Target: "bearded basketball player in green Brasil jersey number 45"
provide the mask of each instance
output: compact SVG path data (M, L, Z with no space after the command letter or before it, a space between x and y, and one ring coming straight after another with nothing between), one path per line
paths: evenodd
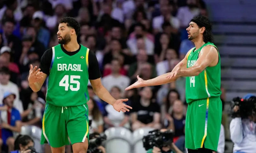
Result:
M101 84L95 54L77 43L79 31L80 25L74 18L62 18L57 33L60 44L46 50L39 69L30 66L28 81L34 92L41 89L49 76L41 143L49 143L52 153L64 153L65 145L69 145L68 137L74 153L87 151L88 80L97 96L116 111L132 109L123 103L128 99L116 100Z

